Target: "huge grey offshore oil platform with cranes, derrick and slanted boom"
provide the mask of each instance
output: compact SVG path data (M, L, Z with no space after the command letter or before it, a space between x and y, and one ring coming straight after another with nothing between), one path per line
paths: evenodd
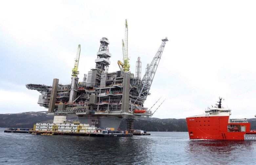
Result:
M77 77L81 50L78 45L71 84L59 84L59 79L54 78L52 86L26 84L26 87L41 93L38 104L48 108L48 115L54 115L54 120L62 120L59 121L61 123L65 123L66 116L75 114L80 123L95 127L112 127L117 130L122 118L125 118L127 130L130 131L133 129L135 118L153 115L143 104L150 95L149 90L168 39L161 41L156 55L151 63L147 64L143 77L141 78L140 57L136 62L134 75L129 71L128 24L125 20L125 38L122 40L123 62L117 61L119 71L108 72L111 58L110 42L103 37L96 53L95 68L84 74L81 82Z

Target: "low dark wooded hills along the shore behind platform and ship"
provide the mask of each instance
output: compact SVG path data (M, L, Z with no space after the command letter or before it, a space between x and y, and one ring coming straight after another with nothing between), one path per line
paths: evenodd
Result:
M77 120L76 116L69 116L67 120ZM256 130L256 119L248 119L251 129ZM0 127L32 128L35 123L51 123L53 116L47 115L47 111L22 112L13 114L0 114ZM119 126L121 130L126 130L125 119ZM187 124L185 119L159 119L159 118L138 118L134 122L134 129L144 131L163 132L186 132Z

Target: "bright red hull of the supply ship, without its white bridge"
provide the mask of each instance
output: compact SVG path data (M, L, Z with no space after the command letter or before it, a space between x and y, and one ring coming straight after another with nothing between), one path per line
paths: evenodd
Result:
M250 123L229 123L229 116L199 116L186 118L190 139L207 140L256 140L256 131ZM245 130L233 131L230 126L242 126Z

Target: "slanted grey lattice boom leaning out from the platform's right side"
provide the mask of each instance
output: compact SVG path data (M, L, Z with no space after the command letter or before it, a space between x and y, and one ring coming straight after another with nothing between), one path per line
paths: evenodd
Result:
M159 61L161 59L166 41L168 41L167 37L165 39L162 39L162 43L161 43L156 55L154 56L151 63L147 66L146 73L144 74L143 78L141 79L140 89L139 89L139 98L142 99L143 102L146 100L147 95L149 93L149 90L150 90L152 81L154 79L154 76L156 74L157 67L158 67Z

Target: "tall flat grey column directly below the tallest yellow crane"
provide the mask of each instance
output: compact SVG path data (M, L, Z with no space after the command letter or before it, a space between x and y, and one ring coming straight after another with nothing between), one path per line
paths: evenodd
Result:
M129 93L130 93L130 79L131 75L123 74L123 97L122 97L122 111L129 112Z

